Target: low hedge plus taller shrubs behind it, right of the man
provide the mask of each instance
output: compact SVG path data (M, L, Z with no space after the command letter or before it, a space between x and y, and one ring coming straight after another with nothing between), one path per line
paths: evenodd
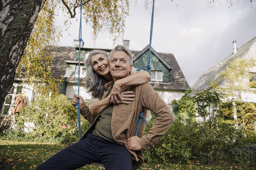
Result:
M186 121L183 121L182 117L177 118L153 148L143 151L146 162L163 164L191 161L201 164L228 162L254 167L255 162L252 161L252 157L255 152L246 148L254 147L256 134L251 129L236 130L233 126L234 122L226 122L225 117L231 120L233 105L230 102L222 103L224 96L222 92L211 88L199 91L193 97L186 95L179 101L174 101L177 111L193 113L194 111L189 109L193 109L195 103L198 106L197 114L204 116L203 121L191 121L195 118L194 114L187 114ZM149 122L145 134L154 120L155 116Z

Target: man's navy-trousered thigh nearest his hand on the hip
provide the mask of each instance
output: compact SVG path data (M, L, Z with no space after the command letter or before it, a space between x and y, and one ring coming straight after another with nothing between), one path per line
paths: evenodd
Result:
M106 170L132 169L132 155L125 146L102 140L96 153Z

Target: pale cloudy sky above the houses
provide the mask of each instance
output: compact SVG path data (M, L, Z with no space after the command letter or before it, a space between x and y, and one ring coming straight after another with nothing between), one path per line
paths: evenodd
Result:
M152 3L130 1L130 15L126 20L124 39L130 40L130 49L142 50L149 44ZM156 52L172 53L189 86L207 70L233 53L237 47L256 36L256 2L252 0L157 0L155 1L152 47ZM78 15L77 15L78 17ZM65 18L59 14L57 25L63 27ZM58 45L73 46L78 39L79 19L73 19ZM113 48L107 32L101 32L93 41L90 25L82 22L84 47ZM118 40L122 44L122 39Z

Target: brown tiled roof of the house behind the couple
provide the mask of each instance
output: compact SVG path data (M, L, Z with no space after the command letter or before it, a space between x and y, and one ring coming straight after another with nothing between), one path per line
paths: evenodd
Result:
M148 46L145 48L149 48ZM143 50L145 50L145 48ZM64 75L66 72L66 61L73 61L76 55L77 47L66 47L66 46L57 46L50 49L50 53L54 56L53 66L52 66L52 75L54 78L61 79L61 75ZM82 48L83 50L92 50L95 48ZM99 49L99 48L97 48ZM102 49L110 51L110 49ZM154 49L152 49L153 51ZM141 51L131 50L131 53L136 56ZM151 82L153 88L157 89L174 89L174 90L188 90L189 85L186 78L184 77L178 62L171 53L157 53L154 50L154 53L158 55L159 58L165 63L166 67L170 70L169 79L170 82ZM77 81L77 78L66 78L66 81ZM82 80L81 80L82 81Z

